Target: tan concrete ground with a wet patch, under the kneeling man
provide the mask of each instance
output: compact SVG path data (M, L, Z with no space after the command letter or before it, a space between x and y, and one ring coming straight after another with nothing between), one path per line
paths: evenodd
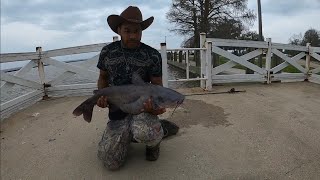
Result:
M320 85L232 84L237 94L187 96L170 116L179 133L148 162L132 144L125 166L108 171L97 143L107 109L91 123L71 112L86 97L41 101L1 126L1 179L320 179ZM199 89L181 90L184 93Z

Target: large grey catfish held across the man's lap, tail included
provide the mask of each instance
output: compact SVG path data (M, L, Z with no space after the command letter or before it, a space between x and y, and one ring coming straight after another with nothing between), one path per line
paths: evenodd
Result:
M184 101L184 95L170 88L144 82L136 73L132 75L132 84L111 86L95 90L94 95L81 103L73 115L83 114L84 120L91 122L93 107L101 96L106 96L108 103L119 107L123 112L139 114L143 103L152 99L153 108L177 107Z

